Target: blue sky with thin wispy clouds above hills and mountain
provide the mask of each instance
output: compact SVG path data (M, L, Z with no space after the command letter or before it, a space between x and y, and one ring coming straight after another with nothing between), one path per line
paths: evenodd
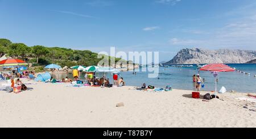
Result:
M256 50L255 0L0 0L0 38L28 46Z

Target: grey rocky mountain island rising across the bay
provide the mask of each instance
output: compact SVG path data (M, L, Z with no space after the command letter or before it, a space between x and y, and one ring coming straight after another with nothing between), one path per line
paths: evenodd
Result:
M209 63L245 63L256 59L255 50L232 49L181 49L168 64L209 64Z

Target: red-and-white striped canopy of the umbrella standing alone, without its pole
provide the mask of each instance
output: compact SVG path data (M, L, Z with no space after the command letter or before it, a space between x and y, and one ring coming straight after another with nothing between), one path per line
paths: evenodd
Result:
M235 69L231 68L228 65L225 64L208 64L203 66L203 68L200 69L201 71L217 71L217 72L228 72L228 71L236 71Z

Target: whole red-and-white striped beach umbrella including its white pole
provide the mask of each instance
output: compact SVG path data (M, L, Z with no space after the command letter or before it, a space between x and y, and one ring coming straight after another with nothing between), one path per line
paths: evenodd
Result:
M200 71L212 71L212 73L215 77L215 98L216 98L217 97L217 75L218 75L218 72L230 72L230 71L236 71L236 70L231 68L228 65L225 65L225 64L208 64L208 65L203 66L203 68L201 68Z

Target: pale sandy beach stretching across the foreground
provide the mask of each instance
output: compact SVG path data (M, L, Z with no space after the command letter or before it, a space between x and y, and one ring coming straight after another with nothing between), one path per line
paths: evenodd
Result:
M20 94L0 91L0 127L256 127L256 112L250 110L256 103L236 99L245 93L218 94L224 101L204 102L192 99L188 90L22 81L37 85L27 85L33 89ZM115 107L120 102L125 106Z

